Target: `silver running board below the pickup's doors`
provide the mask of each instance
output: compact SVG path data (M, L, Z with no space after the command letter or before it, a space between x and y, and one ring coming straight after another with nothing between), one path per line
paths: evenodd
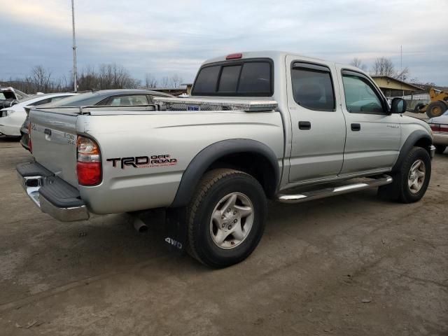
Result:
M319 198L353 193L353 191L385 186L386 184L392 183L392 181L393 179L391 176L381 175L377 179L372 179L372 181L365 183L352 183L347 184L346 186L325 188L321 190L311 190L295 195L279 194L276 197L277 200L281 203L301 203L311 200L318 200Z

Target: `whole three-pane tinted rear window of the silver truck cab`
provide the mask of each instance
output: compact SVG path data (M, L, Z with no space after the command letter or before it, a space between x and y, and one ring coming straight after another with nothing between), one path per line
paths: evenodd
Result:
M192 95L272 96L272 62L243 60L204 66Z

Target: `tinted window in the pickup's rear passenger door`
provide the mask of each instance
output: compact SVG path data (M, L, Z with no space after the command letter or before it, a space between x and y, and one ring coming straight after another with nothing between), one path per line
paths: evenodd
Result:
M304 108L335 111L335 94L326 66L297 62L291 70L293 97Z

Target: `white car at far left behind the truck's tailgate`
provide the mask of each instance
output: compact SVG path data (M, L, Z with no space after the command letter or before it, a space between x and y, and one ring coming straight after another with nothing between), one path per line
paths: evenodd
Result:
M15 104L5 109L0 110L0 135L6 137L20 137L20 127L27 118L25 107L37 106L55 102L77 93L59 92L49 94L38 94L36 96L26 97L21 99L18 104Z

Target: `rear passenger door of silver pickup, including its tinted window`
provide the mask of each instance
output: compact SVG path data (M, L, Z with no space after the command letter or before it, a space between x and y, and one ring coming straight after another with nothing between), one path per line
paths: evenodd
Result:
M329 62L286 57L290 183L332 179L342 169L346 125L334 72Z

